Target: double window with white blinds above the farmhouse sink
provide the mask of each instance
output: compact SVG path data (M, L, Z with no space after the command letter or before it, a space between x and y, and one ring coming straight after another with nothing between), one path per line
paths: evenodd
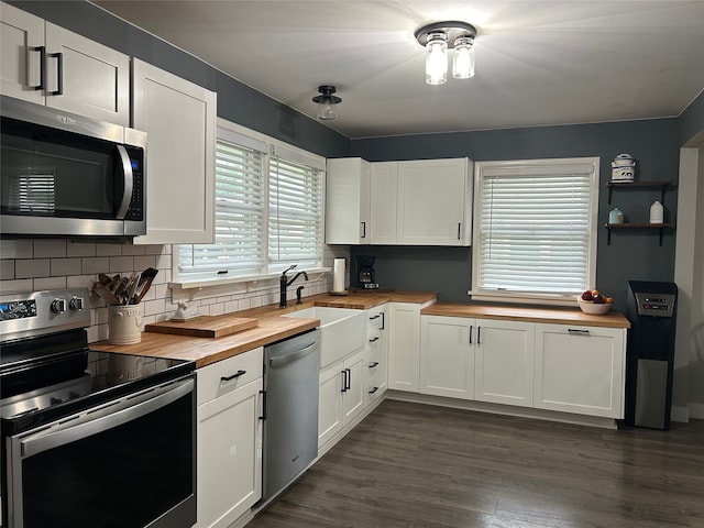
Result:
M178 245L176 280L320 266L324 160L218 129L213 244Z

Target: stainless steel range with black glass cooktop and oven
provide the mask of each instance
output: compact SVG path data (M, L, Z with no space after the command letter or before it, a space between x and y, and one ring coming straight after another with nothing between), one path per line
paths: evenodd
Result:
M195 364L88 326L85 288L0 296L2 526L193 527Z

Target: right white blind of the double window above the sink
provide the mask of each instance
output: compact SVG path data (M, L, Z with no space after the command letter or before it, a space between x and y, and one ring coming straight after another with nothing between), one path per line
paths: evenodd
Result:
M268 260L310 265L322 261L322 170L273 154L270 160Z

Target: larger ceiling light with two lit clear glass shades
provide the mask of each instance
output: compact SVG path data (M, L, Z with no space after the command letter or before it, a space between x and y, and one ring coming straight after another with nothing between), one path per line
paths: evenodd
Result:
M466 22L433 22L416 30L418 44L426 48L426 82L444 85L448 80L448 50L454 50L452 77L474 77L476 28Z

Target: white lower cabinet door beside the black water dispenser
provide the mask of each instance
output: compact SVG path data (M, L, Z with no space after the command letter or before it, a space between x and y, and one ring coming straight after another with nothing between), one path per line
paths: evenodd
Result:
M623 418L626 330L536 327L535 406Z

